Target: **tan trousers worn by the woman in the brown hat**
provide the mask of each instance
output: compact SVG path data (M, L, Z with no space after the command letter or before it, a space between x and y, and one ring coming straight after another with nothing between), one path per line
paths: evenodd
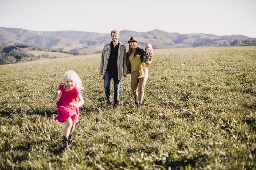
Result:
M144 89L148 80L148 68L144 68L145 77L138 78L140 76L139 71L134 71L131 74L131 90L134 97L138 97L139 103L142 103L144 97Z

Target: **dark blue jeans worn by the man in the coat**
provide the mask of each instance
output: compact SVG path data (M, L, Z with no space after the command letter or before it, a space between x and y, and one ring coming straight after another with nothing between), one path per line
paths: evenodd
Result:
M118 104L120 80L118 80L117 72L110 72L108 70L106 71L104 76L105 94L107 100L111 100L110 81L112 78L114 80L114 102L115 104Z

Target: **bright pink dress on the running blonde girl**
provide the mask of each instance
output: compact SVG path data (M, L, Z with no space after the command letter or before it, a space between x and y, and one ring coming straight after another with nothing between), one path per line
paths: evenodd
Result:
M78 122L79 117L79 107L69 106L70 102L78 102L78 94L81 94L81 90L76 86L72 90L65 90L63 88L63 83L60 84L59 90L61 91L60 100L56 102L58 115L55 120L64 123L68 117L71 117L73 123Z

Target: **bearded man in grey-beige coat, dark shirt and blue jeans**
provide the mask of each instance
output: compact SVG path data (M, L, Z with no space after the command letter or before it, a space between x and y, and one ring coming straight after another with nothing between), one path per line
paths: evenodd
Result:
M119 31L111 31L112 41L104 45L101 61L100 61L100 75L104 79L104 88L107 98L106 107L110 107L112 104L110 81L113 78L114 81L114 109L118 105L119 98L119 86L120 80L123 76L127 76L127 63L126 63L126 46L118 41L120 36Z

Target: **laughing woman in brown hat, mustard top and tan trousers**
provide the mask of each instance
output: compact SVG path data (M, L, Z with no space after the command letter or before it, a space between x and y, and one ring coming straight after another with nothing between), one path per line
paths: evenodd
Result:
M127 52L127 70L128 74L131 74L131 90L132 95L135 99L135 104L140 109L143 97L144 97L144 89L146 82L148 80L148 68L143 67L145 77L138 78L140 76L139 73L139 65L143 61L145 51L138 47L138 41L135 37L131 37L128 41L129 50ZM151 61L150 61L151 64Z

